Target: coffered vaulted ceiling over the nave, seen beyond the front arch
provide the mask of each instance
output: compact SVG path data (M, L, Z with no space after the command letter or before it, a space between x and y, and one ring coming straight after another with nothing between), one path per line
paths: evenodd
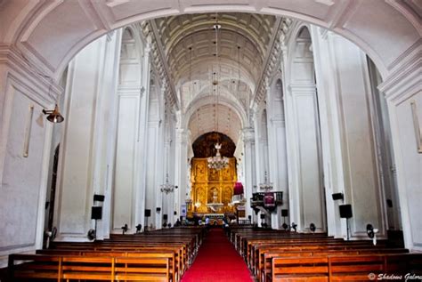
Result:
M221 28L215 30L215 24ZM280 19L201 13L150 20L150 25L187 115L191 139L217 131L238 141Z

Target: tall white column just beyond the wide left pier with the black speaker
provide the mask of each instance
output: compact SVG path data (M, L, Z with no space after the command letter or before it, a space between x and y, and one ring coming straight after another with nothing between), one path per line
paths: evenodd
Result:
M133 30L132 30L133 31ZM124 30L120 53L118 110L116 113L115 166L111 232L128 232L144 225L144 147L149 101L149 46L139 44L135 32ZM142 57L143 54L143 57ZM147 72L147 73L145 73ZM142 211L142 212L141 212Z

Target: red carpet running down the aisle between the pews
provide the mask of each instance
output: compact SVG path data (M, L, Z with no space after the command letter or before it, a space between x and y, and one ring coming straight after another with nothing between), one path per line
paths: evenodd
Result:
M202 281L252 281L246 263L231 246L222 229L209 230L195 262L182 278L182 282Z

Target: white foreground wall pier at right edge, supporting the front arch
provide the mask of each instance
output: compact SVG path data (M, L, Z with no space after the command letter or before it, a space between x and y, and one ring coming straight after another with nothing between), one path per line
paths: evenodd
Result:
M422 148L418 146L422 127L420 54L420 46L408 53L379 87L385 93L392 126L405 246L418 251L422 251ZM417 110L412 110L412 103Z

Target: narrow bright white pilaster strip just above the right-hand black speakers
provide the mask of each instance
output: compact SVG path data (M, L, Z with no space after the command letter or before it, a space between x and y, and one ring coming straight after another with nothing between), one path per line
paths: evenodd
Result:
M337 107L340 98L337 95L336 80L332 77L335 72L335 66L333 65L334 58L329 48L328 31L312 26L311 32L321 120L321 146L328 234L329 236L341 238L345 236L345 224L339 224L342 220L338 212L338 205L343 205L344 201L333 201L331 196L333 193L345 193L340 114Z

